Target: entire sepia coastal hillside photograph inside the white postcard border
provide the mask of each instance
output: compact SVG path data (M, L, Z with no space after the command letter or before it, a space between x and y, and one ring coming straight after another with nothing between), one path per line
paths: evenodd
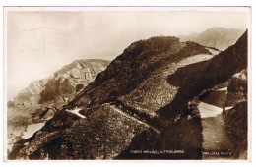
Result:
M6 161L250 160L250 7L3 10Z

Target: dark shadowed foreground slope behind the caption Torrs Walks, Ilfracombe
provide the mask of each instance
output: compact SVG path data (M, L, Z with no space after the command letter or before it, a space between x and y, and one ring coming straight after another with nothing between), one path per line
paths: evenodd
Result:
M157 135L146 130L132 139L115 159L202 159L200 117L184 118Z

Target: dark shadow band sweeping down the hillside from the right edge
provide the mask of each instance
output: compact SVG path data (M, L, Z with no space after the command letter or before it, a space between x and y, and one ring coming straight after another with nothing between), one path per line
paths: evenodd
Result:
M202 90L228 80L232 75L247 67L247 30L224 52L212 59L179 68L167 78L168 83L178 86L172 102L158 111L160 117L170 119L173 112L181 112L186 104Z

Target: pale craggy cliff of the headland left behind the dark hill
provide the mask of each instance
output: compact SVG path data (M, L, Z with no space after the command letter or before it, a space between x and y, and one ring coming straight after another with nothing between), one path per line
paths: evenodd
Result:
M55 72L53 76L32 82L15 97L12 105L14 108L21 108L54 100L65 102L88 83L93 82L96 75L107 65L108 61L104 60L74 61Z

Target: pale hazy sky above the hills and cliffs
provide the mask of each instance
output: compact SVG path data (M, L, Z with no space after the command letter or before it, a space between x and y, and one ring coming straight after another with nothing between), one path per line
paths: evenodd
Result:
M186 35L213 27L246 29L248 19L248 11L237 8L5 8L7 98L75 60L113 60L132 42L152 36Z

